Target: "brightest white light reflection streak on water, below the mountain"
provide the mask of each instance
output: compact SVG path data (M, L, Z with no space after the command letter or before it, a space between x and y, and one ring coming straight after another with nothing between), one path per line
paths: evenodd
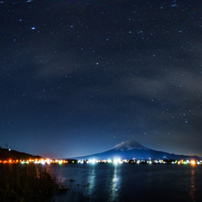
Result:
M114 201L118 198L118 194L119 194L118 191L120 189L120 183L121 183L121 177L120 177L119 171L120 171L119 165L115 165L113 170L111 186L110 186L110 201Z

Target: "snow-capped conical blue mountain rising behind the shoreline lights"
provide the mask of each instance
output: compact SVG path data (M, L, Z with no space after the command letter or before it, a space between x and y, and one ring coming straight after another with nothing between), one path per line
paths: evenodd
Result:
M76 159L90 159L95 158L98 160L107 160L107 159L196 159L199 160L200 157L198 156L188 156L188 155L178 155L178 154L171 154L163 151L156 151L150 148L147 148L140 143L130 140L126 142L121 142L117 144L110 150L105 152L96 153L87 156L76 157Z

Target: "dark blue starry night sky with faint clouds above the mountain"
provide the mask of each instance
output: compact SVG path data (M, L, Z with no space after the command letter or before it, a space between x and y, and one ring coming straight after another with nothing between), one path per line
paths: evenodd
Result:
M1 0L0 146L74 157L136 140L202 156L202 5Z

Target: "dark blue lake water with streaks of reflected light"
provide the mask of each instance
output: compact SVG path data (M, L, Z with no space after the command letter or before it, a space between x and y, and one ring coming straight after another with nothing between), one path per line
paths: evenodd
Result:
M202 166L72 164L50 169L70 187L55 201L202 201Z

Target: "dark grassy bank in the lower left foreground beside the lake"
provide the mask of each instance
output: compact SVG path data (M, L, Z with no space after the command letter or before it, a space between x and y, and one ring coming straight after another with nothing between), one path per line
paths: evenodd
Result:
M0 164L0 201L49 201L57 187L46 166Z

